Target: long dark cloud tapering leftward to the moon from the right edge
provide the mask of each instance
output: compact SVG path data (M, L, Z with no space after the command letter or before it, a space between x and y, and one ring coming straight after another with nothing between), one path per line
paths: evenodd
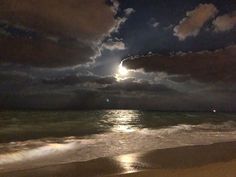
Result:
M166 72L170 75L187 75L203 82L236 81L236 46L216 51L181 53L172 56L153 55L128 58L123 65L146 72Z

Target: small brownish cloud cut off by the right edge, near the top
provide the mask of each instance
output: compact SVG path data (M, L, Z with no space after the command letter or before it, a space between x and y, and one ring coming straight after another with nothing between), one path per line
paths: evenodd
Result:
M212 24L215 32L224 32L233 29L236 26L236 11L218 16Z

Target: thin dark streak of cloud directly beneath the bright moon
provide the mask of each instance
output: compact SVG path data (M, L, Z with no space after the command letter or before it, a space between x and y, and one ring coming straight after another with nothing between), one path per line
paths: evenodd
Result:
M151 84L147 81L137 82L134 78L117 81L116 78L101 77L96 75L70 75L61 78L43 79L42 83L45 85L61 85L61 86L75 86L78 88L86 83L94 83L97 86L86 85L87 89L96 90L99 93L105 92L153 92L153 93L177 93L176 90L168 88L162 84Z

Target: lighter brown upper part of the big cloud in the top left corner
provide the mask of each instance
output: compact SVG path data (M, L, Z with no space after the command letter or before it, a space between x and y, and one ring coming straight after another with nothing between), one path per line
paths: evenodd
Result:
M69 38L100 38L115 24L104 0L2 0L0 9L0 20Z

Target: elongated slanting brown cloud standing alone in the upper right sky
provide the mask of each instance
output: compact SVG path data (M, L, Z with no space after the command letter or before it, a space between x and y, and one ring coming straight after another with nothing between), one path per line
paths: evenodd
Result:
M199 4L194 10L188 11L174 28L174 35L179 40L185 40L190 36L197 36L203 25L210 19L214 18L218 9L214 4Z

